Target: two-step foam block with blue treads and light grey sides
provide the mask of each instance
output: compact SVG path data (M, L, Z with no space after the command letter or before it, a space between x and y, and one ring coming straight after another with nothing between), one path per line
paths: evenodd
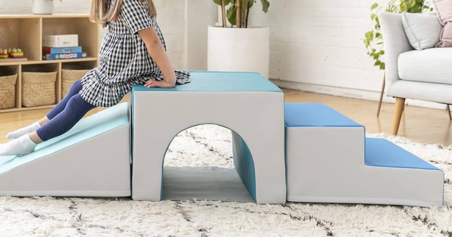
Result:
M444 173L321 104L286 104L287 201L443 205Z

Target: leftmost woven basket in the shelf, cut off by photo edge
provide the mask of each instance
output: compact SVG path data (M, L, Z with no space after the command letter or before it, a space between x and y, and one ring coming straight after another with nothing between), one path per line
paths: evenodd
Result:
M13 108L16 100L17 74L0 68L0 109Z

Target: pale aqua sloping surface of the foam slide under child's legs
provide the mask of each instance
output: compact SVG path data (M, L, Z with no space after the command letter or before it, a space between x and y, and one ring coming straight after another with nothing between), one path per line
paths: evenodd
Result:
M80 120L67 133L39 144L35 151L23 156L2 156L0 174L83 142L117 127L129 124L129 103L121 103Z

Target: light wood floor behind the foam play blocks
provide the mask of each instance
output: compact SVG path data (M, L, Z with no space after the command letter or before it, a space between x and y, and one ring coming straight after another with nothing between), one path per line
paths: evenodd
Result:
M286 102L324 103L350 119L364 125L367 133L391 133L394 104L383 103L380 117L376 117L377 102L294 90L283 90ZM126 96L123 101L129 101ZM446 108L446 106L445 106ZM0 113L0 143L10 131L29 125L47 114L50 109ZM102 110L97 108L88 115ZM413 142L451 145L452 122L446 110L405 106L398 135Z

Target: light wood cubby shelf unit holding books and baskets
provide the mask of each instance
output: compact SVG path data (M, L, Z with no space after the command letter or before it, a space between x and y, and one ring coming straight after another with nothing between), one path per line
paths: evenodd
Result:
M79 59L42 59L42 39L44 35L77 34L79 46L88 52L87 58ZM84 65L95 68L98 65L99 26L90 22L86 14L0 14L0 48L21 48L27 61L0 61L0 67L15 70L18 74L15 87L15 107L0 109L0 113L20 110L52 108L53 105L23 107L22 69L28 65L53 67L57 71L55 83L56 102L61 100L61 70L65 65Z

